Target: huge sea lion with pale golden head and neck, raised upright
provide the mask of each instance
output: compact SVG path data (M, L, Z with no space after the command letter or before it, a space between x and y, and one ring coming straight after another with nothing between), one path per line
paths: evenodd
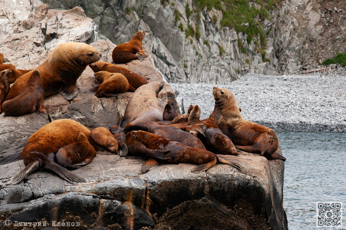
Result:
M36 68L42 77L44 97L59 92L67 100L75 98L78 94L77 79L88 64L100 60L101 56L94 47L83 42L58 44ZM23 74L13 83L6 100L17 97L23 91L32 71Z

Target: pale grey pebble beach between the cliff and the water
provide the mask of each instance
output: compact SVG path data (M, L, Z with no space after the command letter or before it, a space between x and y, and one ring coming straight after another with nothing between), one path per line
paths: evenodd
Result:
M232 91L244 119L276 131L346 132L346 76L315 73L267 76L249 73L221 84L171 83L190 104L201 107L201 119L214 109L214 86Z

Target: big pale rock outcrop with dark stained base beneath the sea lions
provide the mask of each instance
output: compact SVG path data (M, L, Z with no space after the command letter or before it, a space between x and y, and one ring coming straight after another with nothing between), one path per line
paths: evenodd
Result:
M102 53L102 61L111 61L115 45L109 40L96 41L93 21L85 17L81 8L58 11L35 1L22 1L21 6L6 1L4 9L0 51L6 50L2 53L7 53L7 61L18 69L37 67L56 44L67 41L86 42ZM150 77L149 81L164 80L150 50L145 44L143 48L148 58L121 66ZM83 183L70 184L41 171L7 186L24 168L20 153L27 139L48 122L69 118L90 129L119 123L132 93L123 93L118 99L84 94L84 90L93 87L93 80L93 72L87 67L78 79L80 90L76 98L67 101L61 94L46 98L49 120L36 113L21 117L0 114L0 228L286 229L282 206L284 162L246 152L222 156L242 164L243 171L216 164L206 172L194 174L190 172L194 165L181 163L161 164L143 174L140 169L145 160L103 151L97 152L87 166L74 170L85 179ZM159 99L162 106L173 100L180 110L177 112L182 112L182 100L167 82ZM5 219L12 224L4 226ZM14 226L16 221L18 226ZM25 222L43 227L25 226Z

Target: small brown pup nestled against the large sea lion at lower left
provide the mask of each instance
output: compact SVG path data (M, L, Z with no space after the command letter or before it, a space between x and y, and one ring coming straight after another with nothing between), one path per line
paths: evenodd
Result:
M94 147L84 133L79 133L77 142L61 147L55 154L55 160L64 168L78 169L89 164L96 156Z

